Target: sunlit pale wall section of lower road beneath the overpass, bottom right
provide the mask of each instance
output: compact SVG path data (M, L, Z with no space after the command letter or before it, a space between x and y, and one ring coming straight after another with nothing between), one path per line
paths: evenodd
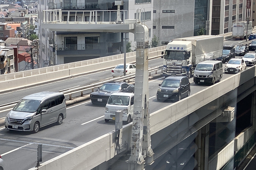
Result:
M208 164L208 170L219 170L234 156L234 141L231 141L218 155L214 156Z

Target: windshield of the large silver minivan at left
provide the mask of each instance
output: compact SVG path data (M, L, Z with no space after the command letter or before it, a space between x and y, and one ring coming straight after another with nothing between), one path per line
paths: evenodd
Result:
M40 103L40 100L21 99L20 102L18 102L18 104L15 105L15 107L12 110L33 113L37 111Z

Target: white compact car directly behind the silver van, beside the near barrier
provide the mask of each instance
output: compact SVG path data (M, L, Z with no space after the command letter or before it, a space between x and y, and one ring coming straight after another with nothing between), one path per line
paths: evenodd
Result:
M225 66L225 73L239 73L246 69L244 59L230 59Z

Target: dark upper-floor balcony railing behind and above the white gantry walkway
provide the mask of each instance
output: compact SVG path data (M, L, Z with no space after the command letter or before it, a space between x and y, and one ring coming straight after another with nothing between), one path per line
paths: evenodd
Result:
M48 9L98 9L99 3L48 3Z

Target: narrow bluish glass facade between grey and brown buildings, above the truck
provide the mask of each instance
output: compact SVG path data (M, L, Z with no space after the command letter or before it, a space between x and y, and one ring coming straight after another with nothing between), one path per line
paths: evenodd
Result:
M206 34L208 0L195 0L194 36Z

